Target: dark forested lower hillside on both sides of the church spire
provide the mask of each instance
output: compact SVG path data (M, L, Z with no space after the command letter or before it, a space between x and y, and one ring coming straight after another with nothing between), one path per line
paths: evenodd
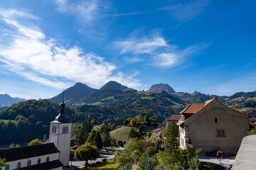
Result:
M142 113L164 120L186 106L186 103L166 92L151 94L136 91L129 94L129 98L124 96L126 95L117 95L112 101L115 104L109 106L66 107L65 114L72 123L95 119L121 124L124 119ZM3 139L0 140L0 145L29 142L35 138L43 139L44 135L48 135L49 122L58 115L59 108L59 104L53 101L28 100L0 111L0 139Z

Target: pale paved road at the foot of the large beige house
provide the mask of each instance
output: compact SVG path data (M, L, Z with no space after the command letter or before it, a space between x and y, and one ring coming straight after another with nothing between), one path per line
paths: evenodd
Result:
M228 169L230 164L234 164L235 162L235 160L232 159L232 157L223 157L222 159L218 160L215 157L200 156L198 157L198 159L201 162L210 162L214 164L220 164L221 166L224 166L225 169Z

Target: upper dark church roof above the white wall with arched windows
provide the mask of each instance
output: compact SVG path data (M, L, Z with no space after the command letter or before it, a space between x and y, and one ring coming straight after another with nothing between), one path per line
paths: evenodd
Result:
M19 159L38 157L46 154L55 154L60 152L53 143L34 145L28 147L16 147L1 149L0 157L6 159L6 162L12 162Z

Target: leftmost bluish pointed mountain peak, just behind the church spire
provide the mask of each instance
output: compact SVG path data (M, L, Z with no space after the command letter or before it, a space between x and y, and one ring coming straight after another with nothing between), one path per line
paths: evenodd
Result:
M94 91L97 91L97 89L93 89L90 86L82 83L76 83L74 86L71 86L64 91L64 101L68 106L70 106L71 103L78 103L82 98L88 96L89 94L92 94ZM60 93L57 96L50 98L49 100L60 103L62 101L62 97L63 93Z

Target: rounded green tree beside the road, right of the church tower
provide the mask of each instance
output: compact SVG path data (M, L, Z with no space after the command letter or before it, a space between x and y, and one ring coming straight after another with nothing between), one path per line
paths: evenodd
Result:
M75 149L75 159L85 161L86 164L88 164L88 160L96 160L98 157L100 157L100 154L95 145L85 143Z

